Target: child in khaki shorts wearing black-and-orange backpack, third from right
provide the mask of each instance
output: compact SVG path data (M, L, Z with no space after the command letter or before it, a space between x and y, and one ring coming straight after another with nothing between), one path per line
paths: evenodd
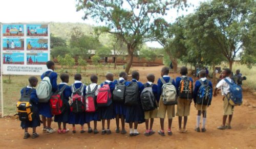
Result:
M177 77L176 78L176 90L177 90L177 96L178 96L178 104L177 104L177 113L176 116L179 116L179 132L180 133L186 133L186 124L187 124L187 116L190 113L190 104L192 102L192 98L193 98L193 79L189 77L189 81L191 82L191 90L189 94L191 95L191 98L181 98L180 97L180 91L181 91L181 84L180 82L182 81L182 79L187 79L187 67L181 67L180 68L180 74L181 77ZM181 123L182 123L182 117L184 117L184 123L183 123L183 128L181 128Z

